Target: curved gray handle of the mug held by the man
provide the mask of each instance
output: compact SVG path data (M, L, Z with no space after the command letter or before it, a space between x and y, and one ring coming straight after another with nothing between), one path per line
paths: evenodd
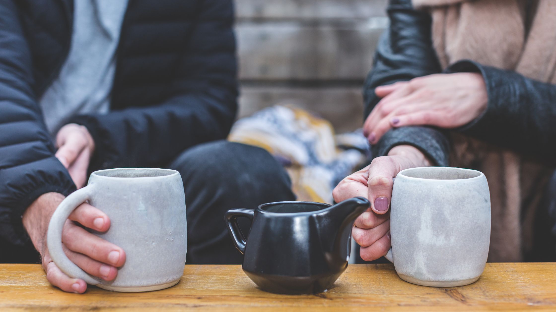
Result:
M54 264L58 266L63 273L66 273L72 278L79 278L85 280L87 284L97 285L101 283L101 280L87 274L79 266L73 263L67 257L62 249L62 229L64 223L66 223L69 215L75 210L79 205L85 203L87 200L91 199L95 188L93 185L87 185L82 189L78 189L66 197L56 208L56 211L52 214L50 223L48 224L47 232L47 245L48 253L50 254Z

